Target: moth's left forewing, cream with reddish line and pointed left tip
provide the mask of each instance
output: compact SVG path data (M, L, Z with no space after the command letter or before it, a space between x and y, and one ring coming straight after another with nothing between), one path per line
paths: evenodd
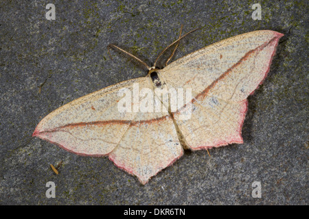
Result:
M119 112L122 89L133 92L133 84L148 87L146 78L122 81L71 101L48 114L33 136L82 155L107 155L119 143L136 113Z

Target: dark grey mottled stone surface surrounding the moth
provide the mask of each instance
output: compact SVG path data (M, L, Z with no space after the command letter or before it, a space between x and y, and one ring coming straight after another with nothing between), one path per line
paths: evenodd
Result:
M260 2L262 20L251 5ZM52 2L51 2L52 3ZM1 1L0 205L308 205L308 2ZM179 58L258 29L285 34L263 86L249 97L244 144L186 151L146 185L107 157L82 157L32 133L49 112L146 71L106 46L152 64L183 31ZM58 164L56 175L49 164ZM45 184L56 183L56 198ZM262 198L251 196L253 181Z

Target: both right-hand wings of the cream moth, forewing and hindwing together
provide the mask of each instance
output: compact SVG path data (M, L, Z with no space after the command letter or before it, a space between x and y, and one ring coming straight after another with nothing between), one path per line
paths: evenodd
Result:
M279 38L253 31L200 49L159 71L169 88L191 88L192 99L174 112L193 150L242 143L247 96L268 73Z

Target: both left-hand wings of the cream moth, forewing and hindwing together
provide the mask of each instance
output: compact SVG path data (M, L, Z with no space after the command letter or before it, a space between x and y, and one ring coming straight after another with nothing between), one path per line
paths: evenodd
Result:
M43 118L33 136L80 155L108 155L116 166L145 184L183 154L165 106L157 111L139 108L145 96L155 95L152 88L149 78L143 77L82 96ZM148 94L140 96L142 90ZM119 110L123 94L132 100L131 112ZM133 95L138 96L136 103ZM148 96L150 102L155 98L154 104L160 103L157 96L152 97Z

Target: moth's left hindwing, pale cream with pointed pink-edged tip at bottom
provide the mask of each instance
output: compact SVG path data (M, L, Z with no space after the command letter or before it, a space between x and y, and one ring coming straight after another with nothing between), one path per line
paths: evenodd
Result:
M142 184L183 155L172 118L167 113L155 115L137 114L108 155L117 167L136 175Z

